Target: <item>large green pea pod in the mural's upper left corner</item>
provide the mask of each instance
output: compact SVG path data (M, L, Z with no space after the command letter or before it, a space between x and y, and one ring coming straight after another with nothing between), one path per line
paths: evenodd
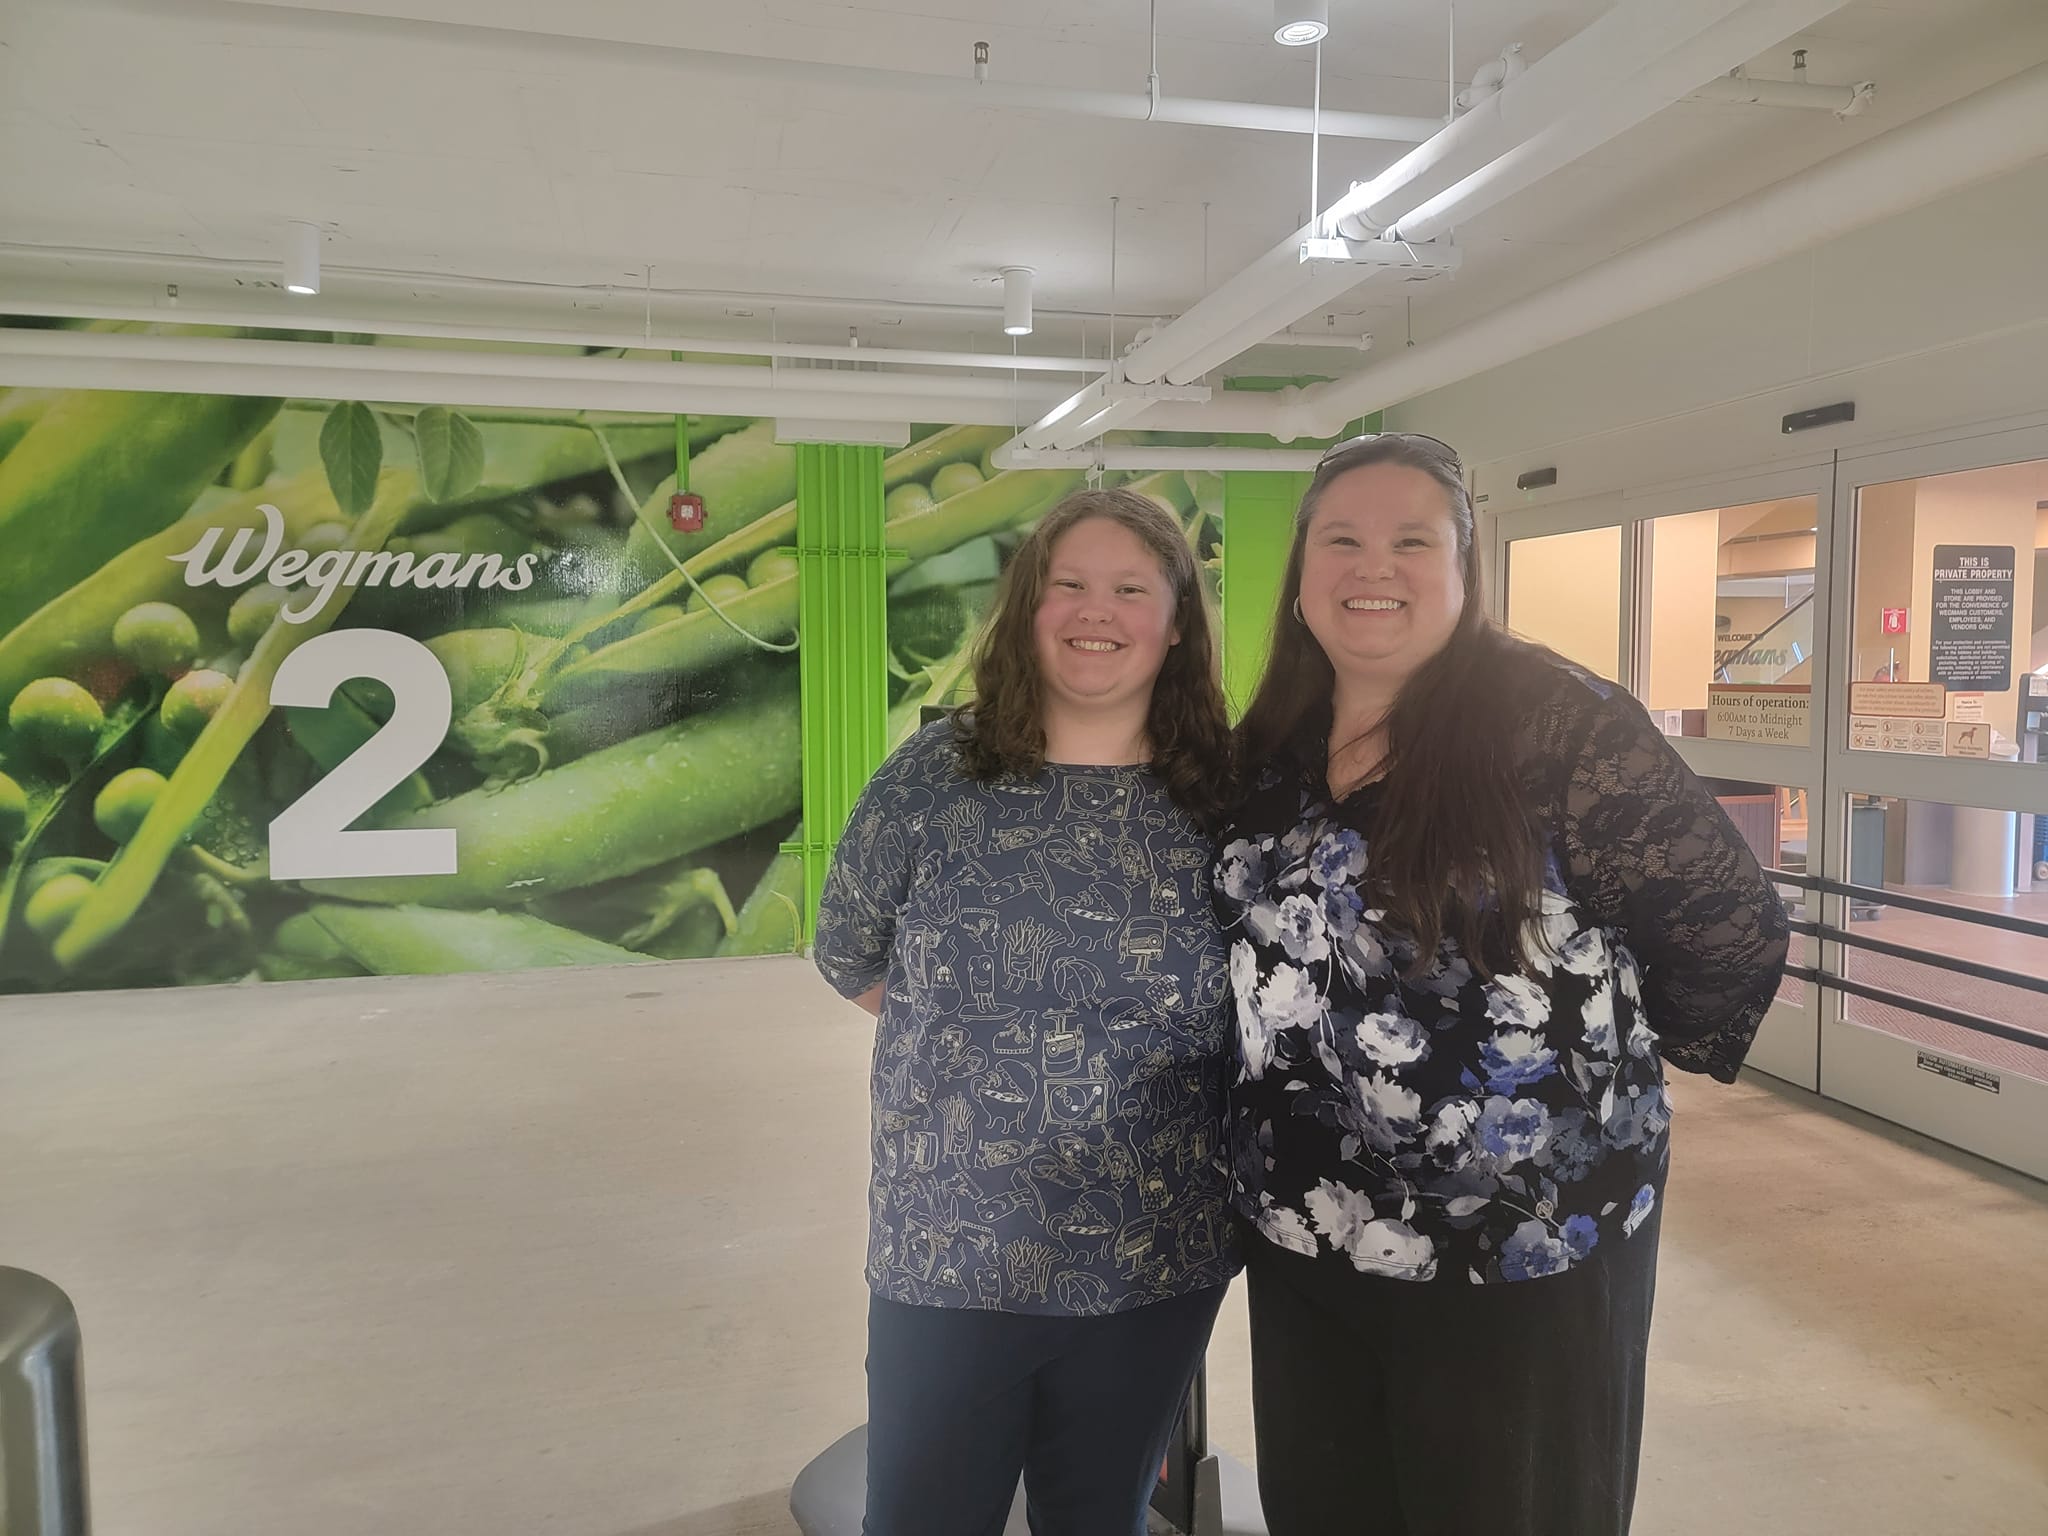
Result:
M0 459L0 629L176 522L279 406L102 389L53 401Z

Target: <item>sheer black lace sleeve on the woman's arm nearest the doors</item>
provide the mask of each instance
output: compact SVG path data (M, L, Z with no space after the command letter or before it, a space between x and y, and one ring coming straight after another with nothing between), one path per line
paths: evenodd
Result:
M1642 965L1645 1018L1665 1061L1735 1081L1786 965L1778 893L1626 692L1577 678L1542 717L1573 897Z

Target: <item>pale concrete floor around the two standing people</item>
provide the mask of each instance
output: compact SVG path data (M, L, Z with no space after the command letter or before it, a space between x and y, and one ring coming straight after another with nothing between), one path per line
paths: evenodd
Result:
M98 1536L791 1532L862 1417L862 1024L797 961L0 999ZM1636 1530L2048 1530L2048 1188L1677 1098ZM1243 1456L1241 1288L1210 1380Z

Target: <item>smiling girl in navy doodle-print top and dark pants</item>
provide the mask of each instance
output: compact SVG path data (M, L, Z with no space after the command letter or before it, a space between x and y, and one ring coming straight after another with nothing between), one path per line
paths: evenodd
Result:
M1143 1536L1239 1268L1208 879L1229 723L1180 524L1053 508L975 702L877 770L817 967L881 1018L866 1536Z

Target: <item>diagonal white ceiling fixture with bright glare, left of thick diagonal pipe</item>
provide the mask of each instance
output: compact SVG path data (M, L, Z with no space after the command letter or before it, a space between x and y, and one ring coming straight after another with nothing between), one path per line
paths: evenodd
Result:
M1124 358L1124 377L1141 383L1192 377L1186 371L1188 358L1206 352L1290 291L1303 297L1296 317L1313 313L1335 295L1356 287L1362 274L1305 270L1300 262L1305 240L1331 227L1354 240L1380 233L1425 197L1497 160L1522 139L1585 111L1589 100L1616 90L1628 76L1647 70L1665 53L1690 43L1704 29L1741 12L1751 2L1620 0L1614 10L1532 63L1503 90L1450 123L1427 143L1401 156L1370 182L1354 186L1319 217L1161 328L1149 342L1133 348ZM1829 0L1806 0L1806 4L1827 6ZM1745 59L1747 55L1733 63ZM1712 78L1726 68L1731 66L1708 66L1690 84ZM1683 88L1675 94L1683 94Z

